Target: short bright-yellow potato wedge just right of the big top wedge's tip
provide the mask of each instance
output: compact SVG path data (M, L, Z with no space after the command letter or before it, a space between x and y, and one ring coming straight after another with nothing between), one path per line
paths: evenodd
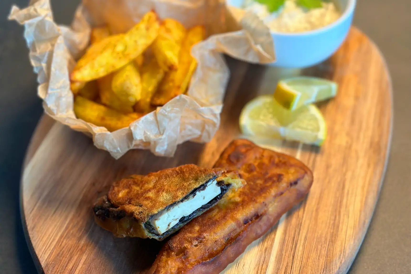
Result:
M184 26L173 19L162 22L157 39L152 44L152 51L158 64L165 71L177 69L178 53L185 37Z

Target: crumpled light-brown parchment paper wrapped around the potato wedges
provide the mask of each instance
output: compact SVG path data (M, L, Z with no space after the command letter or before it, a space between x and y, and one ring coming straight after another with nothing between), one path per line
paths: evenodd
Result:
M175 97L129 128L114 132L77 119L69 72L89 44L91 27L108 25L113 33L125 32L151 9L160 18L175 18L187 28L206 27L208 39L192 48L198 67L187 95ZM54 22L49 0L31 0L25 9L13 6L9 19L25 27L44 111L76 131L91 134L96 147L118 159L135 148L170 157L177 145L187 140L211 140L219 127L229 80L222 53L252 63L275 60L268 28L254 14L241 16L238 24L224 0L83 0L67 27Z

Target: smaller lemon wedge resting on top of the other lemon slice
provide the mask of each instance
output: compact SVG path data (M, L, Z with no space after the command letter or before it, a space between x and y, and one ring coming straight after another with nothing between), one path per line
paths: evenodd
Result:
M299 76L280 80L274 98L291 111L301 106L335 97L338 85L326 79Z

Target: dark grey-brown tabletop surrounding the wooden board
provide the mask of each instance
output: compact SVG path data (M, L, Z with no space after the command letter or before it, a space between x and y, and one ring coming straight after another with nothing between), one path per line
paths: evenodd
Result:
M58 23L70 23L79 0L52 0ZM21 165L42 115L23 28L7 21L0 0L0 273L35 273L21 226ZM358 0L354 24L381 49L394 90L394 131L386 178L350 274L411 273L411 1Z

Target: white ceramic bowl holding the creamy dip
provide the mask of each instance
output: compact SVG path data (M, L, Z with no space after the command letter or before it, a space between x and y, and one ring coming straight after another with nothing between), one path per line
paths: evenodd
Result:
M229 6L240 8L243 0L227 0ZM275 45L276 67L304 68L330 57L348 35L356 0L335 0L342 16L323 28L299 33L271 31Z

